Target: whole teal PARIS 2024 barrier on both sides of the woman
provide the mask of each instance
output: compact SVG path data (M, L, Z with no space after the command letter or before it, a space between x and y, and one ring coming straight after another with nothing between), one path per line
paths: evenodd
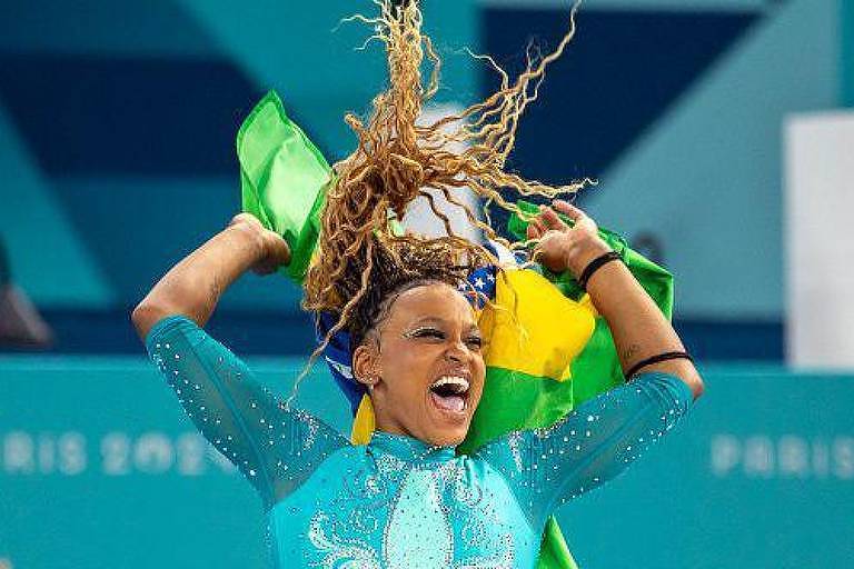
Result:
M301 360L252 360L289 391ZM559 512L583 568L847 567L854 376L705 370L687 421ZM300 406L336 428L325 373ZM264 567L260 501L142 359L0 358L0 559L28 569Z

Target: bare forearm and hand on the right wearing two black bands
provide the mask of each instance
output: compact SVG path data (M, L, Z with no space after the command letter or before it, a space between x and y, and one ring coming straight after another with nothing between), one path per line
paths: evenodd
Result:
M574 226L568 227L552 208L544 207L528 226L528 237L540 239L538 259L543 264L555 272L569 270L578 278L590 261L610 248L598 237L596 222L580 209L562 200L553 206ZM647 358L685 350L671 322L622 262L608 262L596 270L587 281L587 292L608 322L624 371ZM703 393L703 380L689 360L648 363L637 371L672 373L691 388L694 398Z

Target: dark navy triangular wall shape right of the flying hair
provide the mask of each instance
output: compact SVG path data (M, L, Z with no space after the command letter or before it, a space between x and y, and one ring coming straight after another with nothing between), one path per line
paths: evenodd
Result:
M715 60L759 19L752 12L582 10L577 33L548 70L518 132L512 166L559 182L602 176ZM543 52L567 28L566 10L487 9L485 51L518 73L523 47ZM484 71L487 90L497 77Z

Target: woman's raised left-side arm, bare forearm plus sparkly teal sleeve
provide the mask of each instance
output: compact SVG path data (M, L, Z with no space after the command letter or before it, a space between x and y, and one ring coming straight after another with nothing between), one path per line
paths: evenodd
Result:
M310 415L286 409L200 328L242 272L270 272L287 260L281 238L248 218L238 216L172 268L133 311L133 323L196 427L271 506L346 440Z

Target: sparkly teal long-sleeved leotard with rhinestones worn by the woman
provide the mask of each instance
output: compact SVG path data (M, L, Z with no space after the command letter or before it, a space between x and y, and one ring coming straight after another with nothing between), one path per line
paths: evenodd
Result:
M350 445L278 402L185 317L158 322L147 348L195 425L261 496L278 568L534 567L546 518L623 471L693 400L677 378L644 373L548 429L457 456L385 432Z

